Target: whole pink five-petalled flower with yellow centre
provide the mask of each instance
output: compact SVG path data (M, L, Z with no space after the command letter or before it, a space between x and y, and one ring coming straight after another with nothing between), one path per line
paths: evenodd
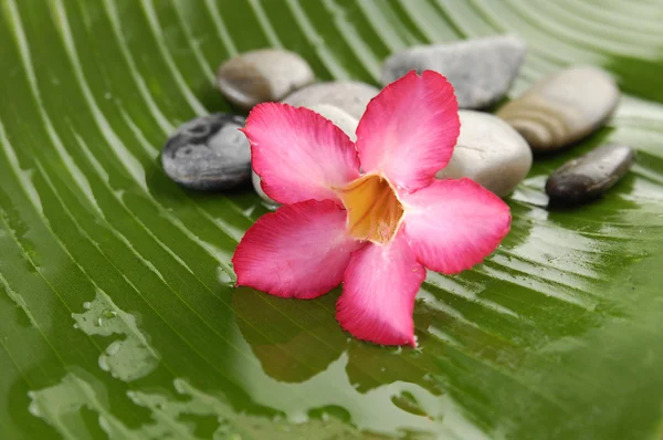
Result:
M307 108L255 106L244 128L253 169L283 206L238 245L238 285L314 298L343 282L343 328L414 346L412 311L425 268L470 269L509 230L509 209L497 196L470 179L434 179L459 130L453 88L431 71L382 90L356 144Z

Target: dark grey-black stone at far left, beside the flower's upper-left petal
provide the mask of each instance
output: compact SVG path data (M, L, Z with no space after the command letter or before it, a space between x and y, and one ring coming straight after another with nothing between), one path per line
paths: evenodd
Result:
M168 139L161 165L179 185L201 190L235 187L251 177L251 148L239 128L242 116L215 113L197 117Z

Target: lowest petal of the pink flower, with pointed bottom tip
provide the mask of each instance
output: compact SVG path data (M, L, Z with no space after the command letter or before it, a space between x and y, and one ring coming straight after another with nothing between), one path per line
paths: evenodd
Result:
M359 339L415 346L412 311L424 279L402 233L388 244L368 243L350 258L336 319Z

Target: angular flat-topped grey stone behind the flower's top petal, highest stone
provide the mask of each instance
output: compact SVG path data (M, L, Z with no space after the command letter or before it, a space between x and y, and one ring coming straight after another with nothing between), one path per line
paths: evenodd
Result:
M508 92L526 52L516 35L419 45L389 56L381 81L387 85L412 70L435 71L453 85L461 108L483 108Z

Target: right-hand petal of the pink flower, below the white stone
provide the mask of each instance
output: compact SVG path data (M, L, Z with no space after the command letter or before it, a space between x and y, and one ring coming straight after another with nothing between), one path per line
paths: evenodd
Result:
M410 248L433 271L457 273L481 263L511 227L508 206L467 178L436 180L401 198Z

